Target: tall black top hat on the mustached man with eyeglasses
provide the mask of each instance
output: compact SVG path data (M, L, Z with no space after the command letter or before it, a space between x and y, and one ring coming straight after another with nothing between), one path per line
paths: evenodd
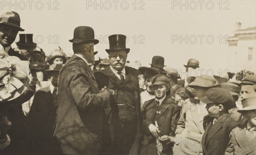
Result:
M113 34L108 37L109 40L109 49L106 49L106 52L111 52L115 50L125 50L128 54L130 49L126 48L126 36L123 34Z

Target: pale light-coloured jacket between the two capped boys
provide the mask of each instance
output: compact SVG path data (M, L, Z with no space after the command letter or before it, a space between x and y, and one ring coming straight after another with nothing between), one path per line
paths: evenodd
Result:
M206 104L195 104L195 99L185 100L175 132L174 155L201 155L202 137L209 121Z

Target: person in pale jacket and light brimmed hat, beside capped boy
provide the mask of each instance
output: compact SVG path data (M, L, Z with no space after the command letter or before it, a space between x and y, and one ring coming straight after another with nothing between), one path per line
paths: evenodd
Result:
M195 77L195 80L188 86L192 88L194 98L187 99L183 103L175 132L177 139L173 154L201 155L203 153L201 138L205 130L204 122L209 120L206 104L201 99L206 96L210 88L218 87L218 83L215 78L202 75Z

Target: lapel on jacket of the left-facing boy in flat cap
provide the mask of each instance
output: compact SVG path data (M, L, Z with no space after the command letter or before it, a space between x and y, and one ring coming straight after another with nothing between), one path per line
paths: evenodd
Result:
M207 143L209 143L209 141L213 138L213 136L221 129L223 122L225 121L225 119L229 117L228 114L224 114L223 116L221 116L221 118L219 118L214 125L212 125L212 128L209 131L209 134L207 136Z

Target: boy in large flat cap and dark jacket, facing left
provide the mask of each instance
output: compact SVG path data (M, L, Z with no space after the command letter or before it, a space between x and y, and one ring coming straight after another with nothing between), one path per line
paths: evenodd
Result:
M202 102L207 104L211 117L202 139L203 152L205 155L223 155L230 140L229 134L238 125L228 112L233 97L224 88L211 88Z

